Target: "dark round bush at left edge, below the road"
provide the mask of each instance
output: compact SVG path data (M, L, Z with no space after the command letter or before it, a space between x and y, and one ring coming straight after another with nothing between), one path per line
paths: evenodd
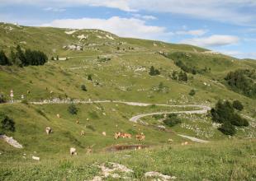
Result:
M9 118L7 115L0 113L0 132L15 132L15 122L12 118Z

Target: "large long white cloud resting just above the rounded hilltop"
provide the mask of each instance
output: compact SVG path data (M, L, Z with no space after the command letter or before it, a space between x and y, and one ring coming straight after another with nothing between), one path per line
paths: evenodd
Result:
M81 18L51 21L41 26L53 26L75 29L101 29L124 37L143 39L164 39L168 33L162 26L148 26L146 22L136 18L112 16L109 19Z

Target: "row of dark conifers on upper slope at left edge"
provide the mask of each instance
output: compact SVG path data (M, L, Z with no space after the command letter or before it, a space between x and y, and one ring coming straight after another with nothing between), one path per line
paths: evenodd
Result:
M38 66L44 65L47 60L48 58L45 53L31 49L25 49L25 51L23 51L20 45L17 45L15 52L13 50L11 51L10 58L7 58L6 54L3 51L0 52L0 65L2 66Z

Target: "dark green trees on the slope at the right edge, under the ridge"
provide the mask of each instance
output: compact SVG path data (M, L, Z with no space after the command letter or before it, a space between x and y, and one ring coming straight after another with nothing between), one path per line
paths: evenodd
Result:
M255 70L239 69L229 72L225 81L235 92L256 98L256 72Z

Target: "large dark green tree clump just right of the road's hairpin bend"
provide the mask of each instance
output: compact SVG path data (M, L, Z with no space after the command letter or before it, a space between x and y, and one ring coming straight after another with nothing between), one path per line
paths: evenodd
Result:
M219 100L216 103L216 107L211 109L211 118L213 122L222 123L219 130L226 135L235 135L235 126L249 126L248 120L235 113L232 103L228 100L224 102Z

